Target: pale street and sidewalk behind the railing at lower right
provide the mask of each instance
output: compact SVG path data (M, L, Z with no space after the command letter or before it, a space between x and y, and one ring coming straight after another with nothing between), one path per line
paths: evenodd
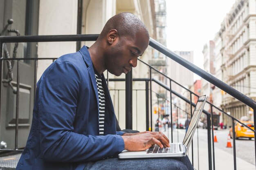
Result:
M164 128L160 129L164 132ZM218 142L214 142L215 169L234 170L233 140L232 148L227 148L229 130L215 130ZM177 133L178 132L178 133ZM171 139L171 128L164 134ZM173 142L182 142L185 135L184 129L173 131ZM179 139L179 140L177 140ZM170 140L171 142L171 140ZM199 149L198 149L199 148ZM199 158L198 158L199 152ZM189 158L192 161L192 147L189 149ZM198 128L193 138L193 165L197 170L208 170L208 145L207 130ZM199 164L199 166L198 166ZM255 170L255 149L254 139L236 139L236 168L237 170Z

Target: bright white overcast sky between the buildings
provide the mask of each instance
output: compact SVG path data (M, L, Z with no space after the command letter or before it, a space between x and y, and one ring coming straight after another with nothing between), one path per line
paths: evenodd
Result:
M194 64L203 69L204 44L213 40L236 0L166 0L167 48L194 51ZM194 80L200 79L194 74Z

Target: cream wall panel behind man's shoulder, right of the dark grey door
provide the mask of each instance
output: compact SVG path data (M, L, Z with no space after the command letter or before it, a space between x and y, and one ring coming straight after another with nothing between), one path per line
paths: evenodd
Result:
M77 0L40 0L38 35L70 35L77 29ZM39 42L38 57L60 57L76 51L76 42ZM38 61L37 80L52 63Z

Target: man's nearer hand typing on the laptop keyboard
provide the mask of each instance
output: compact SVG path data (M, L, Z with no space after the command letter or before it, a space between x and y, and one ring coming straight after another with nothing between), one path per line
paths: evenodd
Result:
M162 132L139 132L135 135L123 135L124 149L130 151L141 151L157 144L160 148L170 147L169 139Z

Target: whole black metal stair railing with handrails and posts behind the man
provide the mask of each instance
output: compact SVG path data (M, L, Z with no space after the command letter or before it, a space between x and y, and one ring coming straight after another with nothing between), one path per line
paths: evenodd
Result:
M18 117L19 117L19 74L20 74L20 70L19 70L19 64L20 64L20 60L34 60L35 61L35 68L34 71L37 71L37 61L38 60L55 60L56 58L3 58L3 43L12 43L12 42L68 42L68 41L95 41L97 39L98 35L36 35L36 36L0 36L0 115L1 113L1 105L2 105L2 79L3 79L3 61L4 60L16 60L17 61L17 95L16 95L16 130L15 130L15 148L14 150L19 150L18 149ZM167 57L170 57L172 60L178 62L179 64L181 64L182 66L188 68L189 70L191 70L193 73L196 73L197 75L199 75L200 77L204 78L205 80L207 80L208 82L210 82L211 84L215 85L216 87L222 89L223 91L225 91L226 93L228 93L229 95L233 96L234 98L240 100L241 102L243 102L244 104L246 104L247 106L251 107L254 110L254 127L256 126L256 102L252 99L250 99L249 97L243 95L242 93L240 93L239 91L237 91L236 89L232 88L231 86L225 84L224 82L220 81L219 79L217 79L216 77L214 77L213 75L203 71L201 68L195 66L194 64L190 63L189 61L183 59L181 56L177 55L176 53L170 51L169 49L167 49L165 46L163 46L162 44L156 42L155 40L150 38L150 42L149 45L152 46L154 49L158 50L159 52L163 53L164 55L166 55ZM141 60L140 60L141 61ZM141 61L142 62L142 61ZM144 62L143 62L144 63ZM146 63L144 63L146 64ZM186 103L190 104L191 107L191 114L192 114L192 106L195 106L195 104L192 102L192 95L198 96L195 93L193 93L192 91L190 91L189 89L184 88L182 85L178 84L177 82L175 82L174 80L172 80L171 78L167 77L166 75L164 75L163 73L161 73L160 71L157 71L157 69L153 68L152 66L146 64L149 67L149 78L146 79L145 81L146 83L146 91L147 89L150 89L150 94L146 94L146 96L148 98L150 98L150 104L148 104L148 109L147 112L147 116L146 116L146 129L149 129L149 126L153 127L153 122L152 120L149 122L149 118L152 118L152 83L155 82L156 84L162 86L163 88L165 88L167 91L170 92L170 105L171 105L171 110L170 113L172 113L172 95L176 95L177 97L180 97L182 100L184 100ZM158 74L161 74L162 76L166 77L166 79L169 80L169 86L167 86L166 84L153 79L152 78L152 70L154 70L155 72L157 72ZM126 75L126 127L130 128L132 127L132 87L131 87L131 82L132 82L132 73L128 73L128 75ZM35 73L35 80L34 80L34 89L36 89L36 73ZM133 79L135 80L135 79ZM110 80L111 81L111 80ZM118 81L118 79L115 79L115 81ZM124 81L124 80L122 80ZM180 87L184 88L186 91L189 92L189 98L187 99L184 96L181 96L180 94L176 93L175 91L173 91L172 89L172 83L175 83L177 85L179 85ZM147 102L146 102L147 103ZM225 115L227 115L229 118L231 118L232 120L232 127L233 127L233 137L235 136L235 132L234 132L234 123L239 122L240 124L243 124L242 122L240 122L238 119L230 116L229 114L225 113L223 110L217 108L216 106L214 106L213 104L207 102L210 106L211 106L211 113L207 112L206 110L203 111L203 113L205 113L207 115L207 139L208 139L208 156L209 156L209 170L215 170L215 155L214 155L214 142L213 142L213 119L211 119L211 117L213 117L213 108L219 110L220 112L224 113ZM171 127L173 127L172 121L172 114L170 114L171 116ZM246 128L248 128L249 130L252 130L254 132L254 135L256 135L255 130L253 130L252 128L250 128L249 126L243 124L243 126L245 126ZM171 141L173 141L173 132L171 129ZM236 141L235 138L233 138L233 151L234 151L234 169L236 170ZM255 146L255 150L256 150L256 142L254 142L254 146ZM213 148L213 150L211 150L211 147ZM192 147L193 148L193 147ZM10 149L11 150L11 149ZM255 152L256 153L256 152ZM192 150L192 155L193 155L193 150ZM192 157L192 163L193 163L193 157Z

